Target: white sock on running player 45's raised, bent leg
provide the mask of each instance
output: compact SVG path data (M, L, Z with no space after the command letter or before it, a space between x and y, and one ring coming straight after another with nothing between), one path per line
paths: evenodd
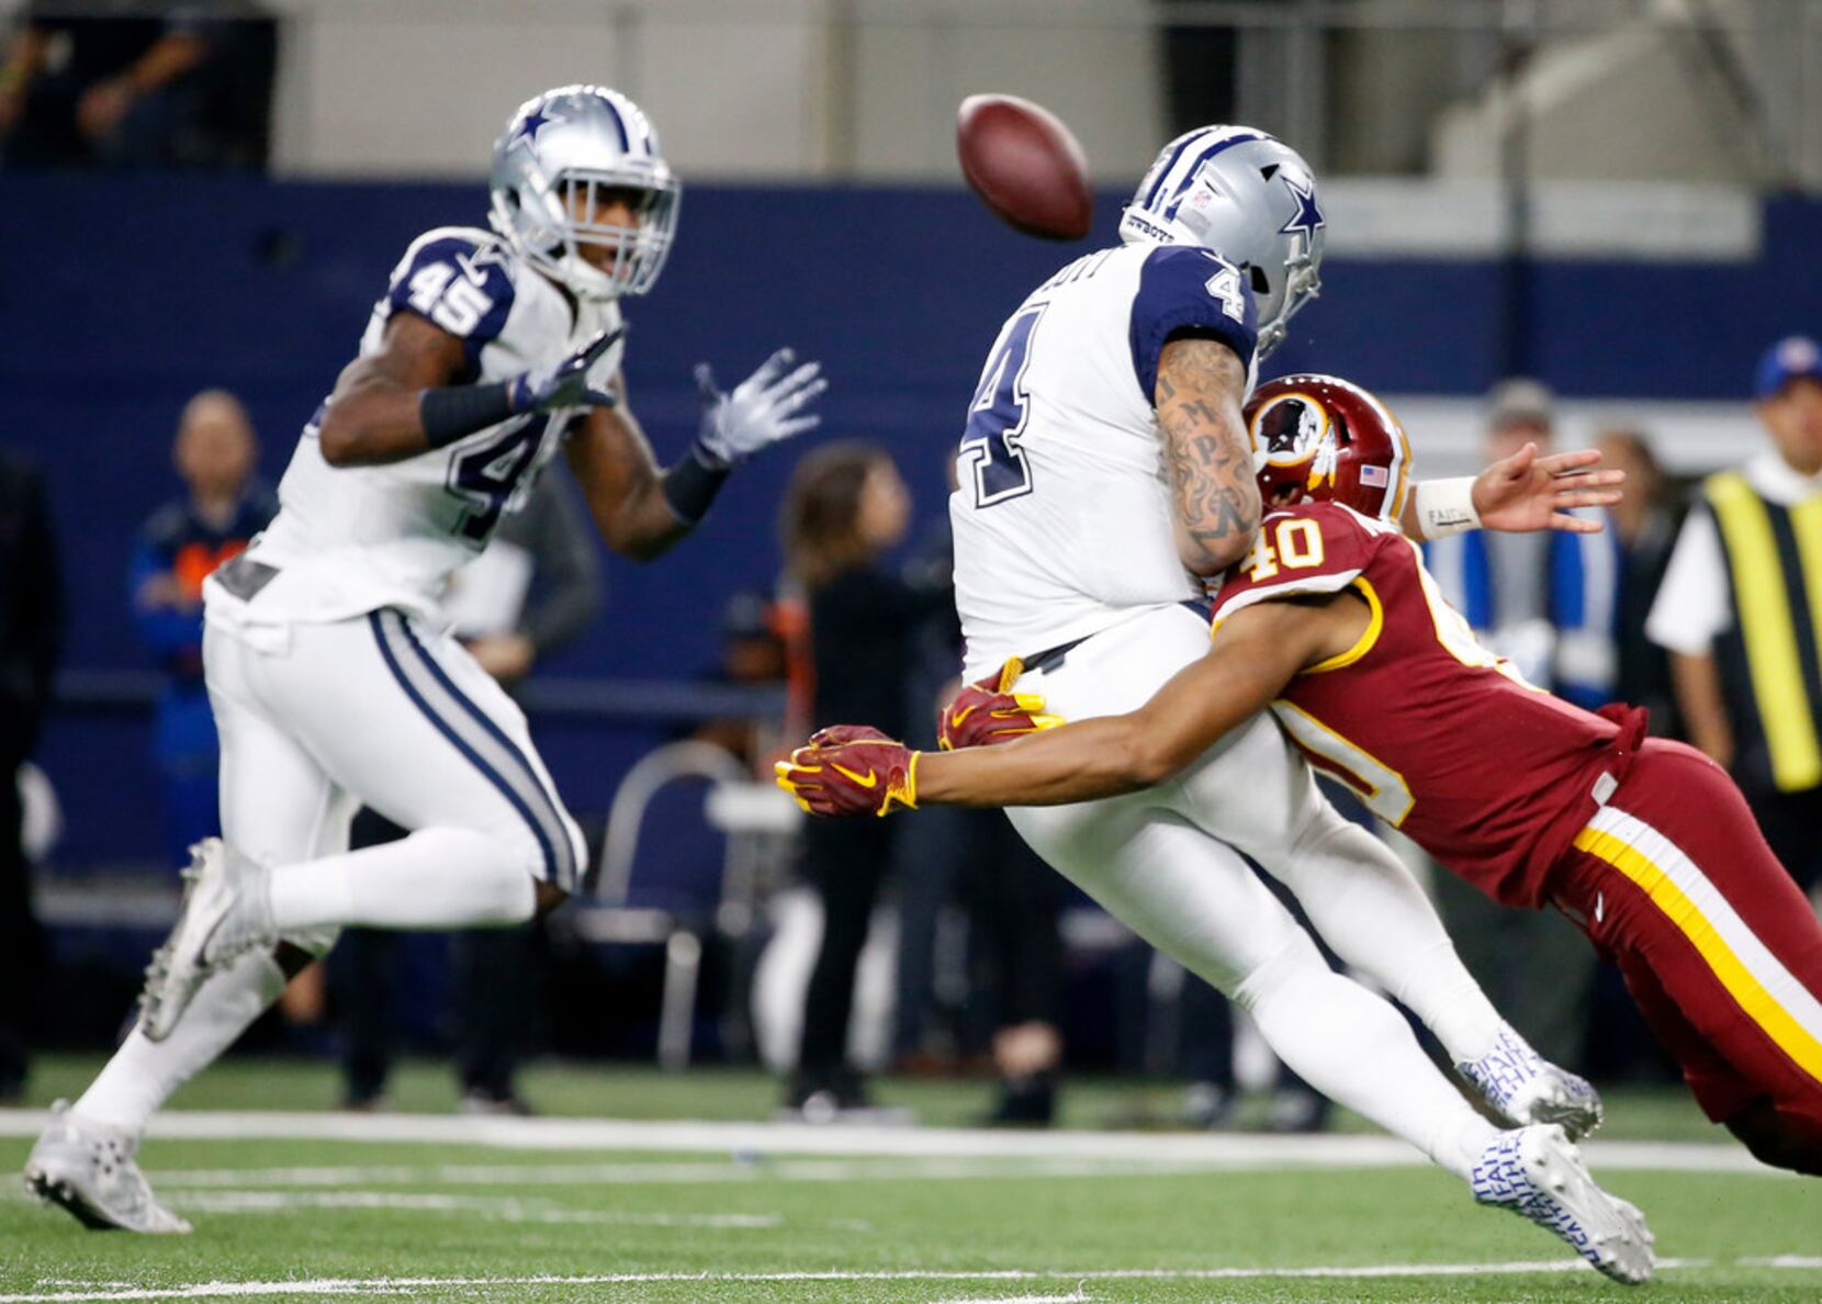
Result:
M537 891L499 841L472 829L421 829L381 847L279 865L279 932L324 925L474 929L525 923Z

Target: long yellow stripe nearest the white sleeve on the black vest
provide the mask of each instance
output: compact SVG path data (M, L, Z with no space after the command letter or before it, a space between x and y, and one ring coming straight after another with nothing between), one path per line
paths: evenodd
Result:
M1735 617L1771 750L1771 778L1786 792L1811 789L1822 783L1822 743L1796 656L1796 625L1771 515L1745 477L1735 472L1713 477L1707 494L1733 563ZM1811 583L1822 585L1822 579Z

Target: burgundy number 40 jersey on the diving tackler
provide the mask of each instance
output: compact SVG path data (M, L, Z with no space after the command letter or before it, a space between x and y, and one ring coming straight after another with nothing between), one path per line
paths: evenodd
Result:
M1416 545L1339 503L1266 515L1215 597L1215 630L1254 603L1343 590L1366 603L1366 630L1272 703L1285 732L1483 892L1538 905L1631 763L1643 712L1609 719L1525 683L1474 641Z

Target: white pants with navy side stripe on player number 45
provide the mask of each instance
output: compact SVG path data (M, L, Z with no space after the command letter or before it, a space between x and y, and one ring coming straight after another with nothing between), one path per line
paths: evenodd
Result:
M222 836L246 856L290 867L341 852L348 820L368 805L443 834L445 854L474 849L576 889L581 830L525 712L452 636L395 610L326 625L211 623L202 656L220 732ZM344 922L461 923L432 902L421 920Z

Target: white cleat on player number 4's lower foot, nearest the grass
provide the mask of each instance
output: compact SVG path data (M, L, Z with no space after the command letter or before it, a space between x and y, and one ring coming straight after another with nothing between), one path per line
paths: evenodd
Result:
M1556 1233L1616 1282L1651 1280L1654 1237L1643 1215L1594 1184L1556 1124L1500 1133L1469 1177L1474 1198Z

